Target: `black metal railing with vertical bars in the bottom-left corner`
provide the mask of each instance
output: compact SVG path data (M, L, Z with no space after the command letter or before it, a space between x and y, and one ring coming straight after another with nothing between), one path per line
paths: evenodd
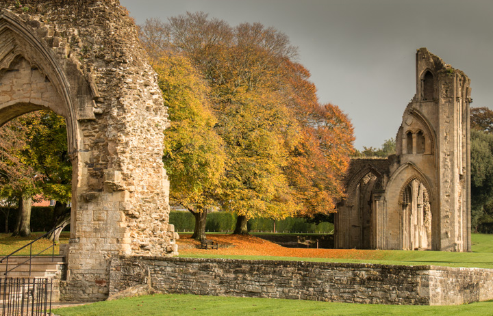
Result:
M2 316L51 315L51 278L7 278L0 283Z

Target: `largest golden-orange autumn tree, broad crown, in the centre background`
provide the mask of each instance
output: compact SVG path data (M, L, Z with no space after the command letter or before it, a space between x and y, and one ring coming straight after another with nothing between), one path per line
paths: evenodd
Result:
M183 53L210 85L215 130L227 153L222 206L238 214L235 233L247 233L248 218L280 219L301 209L315 211L300 206L305 188L296 185L303 181L294 180L296 172L290 172L303 141L313 147L303 154L306 168L320 168L320 176L329 172L325 180L330 183L323 188L309 182L320 187L314 195L325 195L317 197L330 200L327 205L333 208L342 196L339 178L353 150L352 127L337 107L318 103L309 73L293 62L297 50L285 34L260 23L230 27L203 12L176 16L168 23L147 21L140 30L151 55L156 47ZM323 167L308 167L316 155ZM296 179L302 179L301 174Z

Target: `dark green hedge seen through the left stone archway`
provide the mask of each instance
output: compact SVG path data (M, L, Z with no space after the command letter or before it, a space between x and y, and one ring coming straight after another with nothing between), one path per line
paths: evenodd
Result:
M0 207L0 233L5 233L5 215L8 214L8 233L14 231L17 209L15 207ZM53 218L53 207L31 208L31 231L49 231ZM70 231L67 225L64 231Z

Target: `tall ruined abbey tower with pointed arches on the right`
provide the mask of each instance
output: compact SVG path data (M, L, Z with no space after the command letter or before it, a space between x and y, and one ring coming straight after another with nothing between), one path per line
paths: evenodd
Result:
M396 155L353 159L336 248L470 251L470 80L427 49Z

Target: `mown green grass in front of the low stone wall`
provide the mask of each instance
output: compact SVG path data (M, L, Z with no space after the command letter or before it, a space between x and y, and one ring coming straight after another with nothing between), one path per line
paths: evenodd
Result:
M493 302L458 306L348 304L268 298L156 294L58 308L61 316L99 315L492 315Z

